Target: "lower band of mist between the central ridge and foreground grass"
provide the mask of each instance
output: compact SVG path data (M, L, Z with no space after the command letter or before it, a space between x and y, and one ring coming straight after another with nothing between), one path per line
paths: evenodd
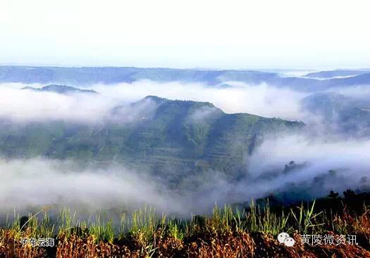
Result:
M188 218L191 214L208 213L216 203L249 202L272 192L290 192L292 185L307 191L315 178L328 175L331 170L336 171L335 177L322 178L321 188L312 188L307 198L325 196L330 190L355 190L369 176L369 149L370 140L325 142L304 135L266 140L249 157L245 178L230 182L222 173L209 171L206 176L185 179L198 185L192 191L171 190L168 182L122 164L79 168L73 161L1 159L0 205L2 212L58 204L79 210L83 207L92 214L149 205L159 213ZM283 173L290 161L304 166ZM271 176L271 171L278 173Z

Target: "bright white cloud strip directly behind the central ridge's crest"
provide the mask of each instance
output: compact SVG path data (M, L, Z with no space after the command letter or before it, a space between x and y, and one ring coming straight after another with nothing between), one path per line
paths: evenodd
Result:
M245 85L226 82L233 87L211 87L200 83L151 82L147 80L92 88L107 97L135 101L147 95L168 99L211 102L226 113L252 113L266 117L300 119L300 99L307 94L266 84Z

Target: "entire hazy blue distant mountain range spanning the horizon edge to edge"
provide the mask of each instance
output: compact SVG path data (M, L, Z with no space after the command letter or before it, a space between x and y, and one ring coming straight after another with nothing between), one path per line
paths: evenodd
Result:
M331 73L348 74L349 72L331 71ZM352 75L352 72L350 73ZM137 80L154 80L156 82L202 82L207 85L219 85L223 82L238 81L249 84L260 84L265 82L275 85L276 87L290 87L294 90L317 92L332 87L370 84L370 70L362 71L362 74L354 75L351 78L316 80L309 78L312 76L312 74L309 74L306 78L287 78L280 76L278 73L253 70L0 66L0 82L53 83L78 87L96 83L111 84L118 82L135 82Z

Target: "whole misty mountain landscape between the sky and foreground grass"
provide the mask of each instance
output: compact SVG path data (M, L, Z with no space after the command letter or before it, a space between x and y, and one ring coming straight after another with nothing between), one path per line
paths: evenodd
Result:
M272 192L290 203L369 189L366 69L2 66L0 96L4 210L190 216Z

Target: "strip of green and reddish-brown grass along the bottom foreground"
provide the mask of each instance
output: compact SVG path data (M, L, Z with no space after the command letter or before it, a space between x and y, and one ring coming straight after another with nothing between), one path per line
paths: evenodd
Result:
M370 257L366 207L362 215L335 216L303 205L287 214L272 213L269 207L261 210L253 205L247 212L216 207L211 216L178 221L144 209L123 218L119 232L111 221L79 222L68 211L61 212L59 225L54 225L45 212L44 219L30 215L27 226L16 219L2 228L0 257ZM281 231L295 238L294 247L278 243ZM359 245L303 245L303 233L357 235ZM19 242L45 235L54 235L56 247L23 247Z

